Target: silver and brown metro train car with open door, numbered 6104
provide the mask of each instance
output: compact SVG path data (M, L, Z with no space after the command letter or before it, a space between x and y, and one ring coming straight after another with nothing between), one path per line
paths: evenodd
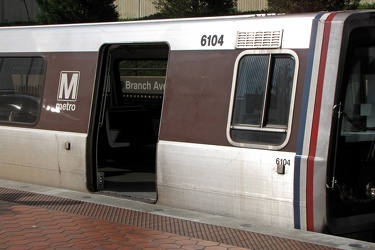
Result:
M0 28L0 178L374 241L375 12Z

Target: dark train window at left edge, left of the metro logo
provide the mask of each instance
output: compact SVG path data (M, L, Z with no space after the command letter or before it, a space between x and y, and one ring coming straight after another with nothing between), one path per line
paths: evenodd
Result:
M44 60L0 57L0 121L34 124L39 117Z

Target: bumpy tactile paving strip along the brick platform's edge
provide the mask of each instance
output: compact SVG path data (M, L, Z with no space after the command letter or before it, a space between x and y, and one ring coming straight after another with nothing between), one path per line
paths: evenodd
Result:
M249 249L335 249L271 235L10 188L0 188L0 200Z

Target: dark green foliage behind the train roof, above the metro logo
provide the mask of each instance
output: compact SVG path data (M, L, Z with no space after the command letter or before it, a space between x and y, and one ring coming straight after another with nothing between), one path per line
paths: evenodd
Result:
M117 21L113 0L37 0L42 24Z

